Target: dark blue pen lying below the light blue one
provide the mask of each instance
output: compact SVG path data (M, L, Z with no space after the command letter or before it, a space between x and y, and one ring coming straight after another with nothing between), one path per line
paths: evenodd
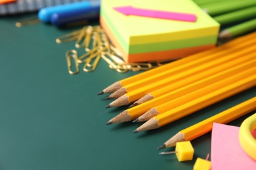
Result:
M56 12L51 16L51 24L56 26L84 20L95 20L100 17L100 1L87 1L83 9Z

